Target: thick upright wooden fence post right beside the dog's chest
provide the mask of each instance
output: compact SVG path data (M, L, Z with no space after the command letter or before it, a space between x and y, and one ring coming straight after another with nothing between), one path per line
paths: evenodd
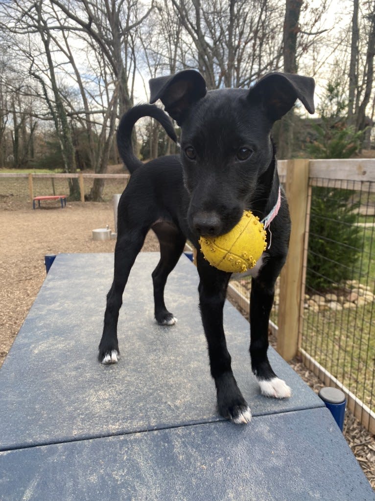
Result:
M306 224L309 160L288 160L285 194L289 204L291 233L288 256L280 275L277 352L286 361L298 351L302 299L303 247Z

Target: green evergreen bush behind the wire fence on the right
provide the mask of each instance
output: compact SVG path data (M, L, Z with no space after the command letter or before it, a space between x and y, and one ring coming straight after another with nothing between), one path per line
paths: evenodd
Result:
M349 158L359 148L362 132L346 126L346 103L340 83L328 84L319 122L311 122L309 158ZM361 249L360 228L355 224L355 192L348 189L313 187L307 256L307 288L326 291L352 278Z

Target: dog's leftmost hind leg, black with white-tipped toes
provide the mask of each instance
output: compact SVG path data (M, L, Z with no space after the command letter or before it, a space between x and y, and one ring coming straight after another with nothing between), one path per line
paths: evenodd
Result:
M114 278L107 294L103 334L99 344L98 360L103 364L116 363L119 356L117 321L122 305L122 294L145 238L145 230L125 232L114 249Z

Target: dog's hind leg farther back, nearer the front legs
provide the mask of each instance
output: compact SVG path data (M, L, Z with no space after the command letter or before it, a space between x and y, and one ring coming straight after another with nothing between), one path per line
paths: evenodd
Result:
M169 273L182 254L186 238L168 222L157 222L152 229L160 243L160 261L152 272L155 320L159 325L173 325L177 320L165 307L164 288Z

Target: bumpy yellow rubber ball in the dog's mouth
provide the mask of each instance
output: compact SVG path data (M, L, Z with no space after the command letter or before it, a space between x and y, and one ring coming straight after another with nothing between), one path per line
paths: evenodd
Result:
M220 236L202 236L200 249L210 265L229 273L251 270L266 249L263 223L250 210L245 210L238 223Z

